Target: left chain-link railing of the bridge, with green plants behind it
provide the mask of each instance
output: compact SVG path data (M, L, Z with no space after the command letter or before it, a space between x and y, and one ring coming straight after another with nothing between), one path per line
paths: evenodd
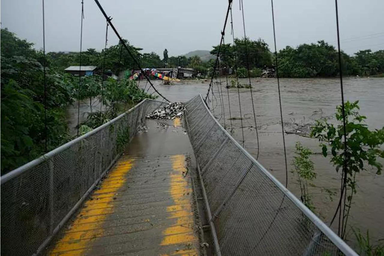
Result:
M143 100L112 121L0 177L0 254L44 249L162 104Z

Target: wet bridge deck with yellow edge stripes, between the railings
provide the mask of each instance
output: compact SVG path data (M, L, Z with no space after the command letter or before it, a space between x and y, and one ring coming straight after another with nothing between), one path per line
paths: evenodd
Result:
M199 254L186 168L193 151L181 120L169 125L147 120L48 254Z

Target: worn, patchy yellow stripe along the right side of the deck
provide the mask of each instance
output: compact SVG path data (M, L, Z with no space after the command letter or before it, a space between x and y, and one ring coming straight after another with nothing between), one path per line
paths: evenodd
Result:
M174 119L174 125L175 125ZM180 122L180 120L179 120ZM170 186L169 194L175 203L180 198L180 191L184 191L184 194L187 198L186 204L171 205L167 207L167 212L169 216L176 219L176 226L171 226L163 231L164 238L161 241L160 245L170 245L170 244L191 244L191 242L197 241L197 237L194 234L193 225L185 226L182 223L185 223L187 220L189 223L193 223L193 214L192 213L192 201L191 196L188 196L192 193L192 189L188 184L187 180L180 181L183 173L187 171L185 168L185 156L184 155L174 155L171 157L172 160L172 169L173 172L170 173ZM178 182L175 182L175 181ZM175 235L170 235L175 234ZM192 245L192 244L191 244ZM175 252L174 252L175 253ZM172 253L172 254L174 254ZM190 252L192 255L197 255L197 250L192 248ZM177 254L177 252L176 252Z

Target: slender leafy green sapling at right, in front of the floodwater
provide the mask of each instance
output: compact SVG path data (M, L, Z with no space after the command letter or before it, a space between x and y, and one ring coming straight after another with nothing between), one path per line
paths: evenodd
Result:
M349 213L354 194L356 194L356 175L367 167L376 169L381 174L382 164L377 158L384 158L381 146L384 143L384 128L369 130L364 123L365 116L359 114L358 101L345 103L343 116L342 106L336 108L336 124L327 120L317 120L312 128L311 136L321 141L323 156L328 156L328 148L331 149L330 162L336 167L338 173L341 169L341 193L338 208L339 212L339 236L345 238ZM345 130L343 117L346 119ZM346 140L346 142L344 142ZM335 214L336 216L336 214Z

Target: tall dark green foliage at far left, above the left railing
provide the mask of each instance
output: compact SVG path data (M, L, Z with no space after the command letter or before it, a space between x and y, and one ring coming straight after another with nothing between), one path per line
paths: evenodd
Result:
M63 108L73 91L68 75L47 68L45 98L41 52L7 29L0 29L0 42L1 175L41 155L45 143L49 151L68 139Z

